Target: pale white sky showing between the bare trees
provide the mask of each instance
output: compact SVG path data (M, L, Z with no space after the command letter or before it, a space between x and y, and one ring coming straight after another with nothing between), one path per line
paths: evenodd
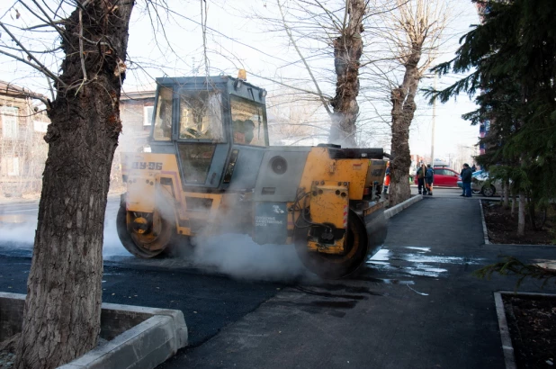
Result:
M49 0L46 0L47 3ZM325 0L327 1L327 0ZM388 3L388 0L383 0ZM468 0L448 0L450 2L451 19L445 31L442 49L438 62L453 58L458 40L463 33L470 30L470 24L478 23L479 19ZM328 0L333 2L333 0ZM19 27L35 25L37 22L21 4L13 0L3 0L0 4L0 21ZM52 1L51 3L57 3ZM282 2L284 3L284 2ZM288 4L288 2L285 2ZM391 3L391 2L390 2ZM15 4L13 6L13 4ZM268 101L273 96L288 94L284 87L273 81L282 81L304 89L313 89L308 82L307 70L299 63L299 56L286 38L284 31L276 30L269 19L280 16L276 4L264 0L225 0L184 1L168 0L169 10L158 9L158 14L139 0L133 10L130 23L130 39L128 46L129 72L124 83L124 91L137 91L152 88L157 76L191 76L225 74L236 76L238 68L247 69L247 79L254 85L268 90ZM206 7L205 7L206 5ZM15 9L20 17L17 18ZM70 11L70 8L67 8ZM4 15L3 15L4 14ZM157 19L157 15L159 18ZM203 47L202 23L206 19L206 42ZM296 26L292 14L286 14L291 27ZM12 45L9 37L0 30L0 42ZM328 72L333 63L331 58L314 58L311 50L318 47L309 40L299 39L305 56L318 74L319 84L323 92L334 94L334 84ZM39 37L29 32L22 33L22 42L32 49L43 49L57 45L50 33L41 33ZM371 46L372 45L368 45ZM309 50L311 49L311 50ZM204 64L206 58L209 66ZM50 70L57 71L59 58L39 56ZM298 61L298 63L292 63ZM399 78L400 75L394 76ZM438 80L437 86L443 87L453 83L459 76L447 76ZM23 85L43 94L48 94L46 79L21 62L14 63L11 58L0 55L0 79ZM380 120L376 122L375 106L367 103L360 95L362 121L364 130L372 139L372 145L388 145L389 138L383 132L388 130L386 124L390 120L388 95L372 92L372 81L369 81L369 94L378 99ZM433 79L424 79L421 87L433 85ZM363 90L363 88L362 88ZM435 114L435 157L446 157L457 151L458 146L472 147L479 136L479 128L471 127L463 121L464 112L474 110L468 96L459 96L457 101L438 103ZM313 116L319 124L327 124L324 110ZM416 118L410 130L410 148L412 154L429 155L431 149L433 107L426 103L422 96L417 97ZM378 133L382 132L382 133ZM376 133L376 134L375 134Z

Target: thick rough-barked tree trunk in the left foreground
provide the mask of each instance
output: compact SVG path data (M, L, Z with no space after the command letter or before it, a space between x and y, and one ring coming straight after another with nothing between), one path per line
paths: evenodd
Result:
M100 333L104 211L121 131L132 7L132 1L92 1L65 23L63 83L49 106L49 157L16 352L19 369L63 365L95 347ZM102 43L79 45L80 18L84 38Z

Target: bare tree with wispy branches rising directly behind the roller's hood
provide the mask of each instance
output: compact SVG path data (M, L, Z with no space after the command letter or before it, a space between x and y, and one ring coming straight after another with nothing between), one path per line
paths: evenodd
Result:
M365 43L370 43L366 38L371 40L375 35L367 30L374 28L373 19L378 14L391 10L391 5L378 3L276 0L280 18L256 14L274 32L285 33L298 60L282 61L299 68L295 78L282 83L297 87L300 94L313 96L322 104L329 119L329 142L357 146L357 132L361 132L356 125L360 118L360 74L366 67L361 59Z

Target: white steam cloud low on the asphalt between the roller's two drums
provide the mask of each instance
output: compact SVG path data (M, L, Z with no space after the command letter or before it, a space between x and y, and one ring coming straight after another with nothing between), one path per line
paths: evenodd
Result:
M258 245L242 234L194 238L191 258L195 266L238 279L289 282L314 277L293 245Z

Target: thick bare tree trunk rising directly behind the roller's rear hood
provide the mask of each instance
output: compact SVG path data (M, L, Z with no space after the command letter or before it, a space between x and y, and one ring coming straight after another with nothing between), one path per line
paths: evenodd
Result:
M359 67L363 54L363 16L365 0L346 1L349 14L344 34L334 40L334 67L336 69L336 95L330 102L334 108L329 141L354 148L355 121L359 113Z

